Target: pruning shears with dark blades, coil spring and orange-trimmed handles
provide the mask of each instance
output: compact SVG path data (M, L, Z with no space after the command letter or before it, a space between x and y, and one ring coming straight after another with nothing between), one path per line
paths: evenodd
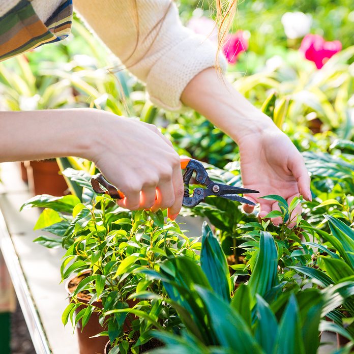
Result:
M259 193L253 189L246 189L241 187L234 187L222 183L216 183L209 178L208 172L200 161L190 158L181 158L181 168L184 169L183 185L184 195L182 205L187 208L192 208L198 205L206 197L217 196L229 200L238 201L240 203L256 205L253 201L240 197L238 194ZM195 172L195 180L199 185L206 188L194 188L193 194L190 195L189 183ZM124 194L115 186L110 184L101 173L94 175L91 179L91 185L94 191L98 194L108 194L113 199L123 199ZM102 187L105 189L102 189Z

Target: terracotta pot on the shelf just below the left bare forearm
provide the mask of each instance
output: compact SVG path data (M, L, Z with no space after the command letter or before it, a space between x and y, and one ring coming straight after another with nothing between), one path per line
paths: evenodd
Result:
M62 196L68 189L55 160L30 161L27 165L28 185L35 194Z

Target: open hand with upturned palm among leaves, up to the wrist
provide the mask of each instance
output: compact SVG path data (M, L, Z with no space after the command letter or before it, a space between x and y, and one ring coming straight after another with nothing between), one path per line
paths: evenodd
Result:
M238 144L245 188L258 190L259 196L281 195L288 204L299 194L306 200L311 200L310 177L304 160L290 139L278 128L274 126L245 135L238 140ZM256 194L246 195L248 199L260 204L259 218L265 217L271 211L280 210L277 201L256 196ZM243 209L251 213L254 207L244 204ZM294 210L293 215L296 214L301 214L301 204ZM282 219L276 217L271 221L279 225ZM288 224L289 227L294 225L294 220Z

